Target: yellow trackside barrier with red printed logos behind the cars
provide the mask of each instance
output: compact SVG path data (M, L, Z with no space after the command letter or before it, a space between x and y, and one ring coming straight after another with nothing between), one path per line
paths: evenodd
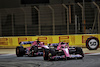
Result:
M86 40L90 36L98 38L100 42L100 34L0 37L0 48L15 48L19 46L21 41L35 41L37 39L44 42L45 45L63 41L68 42L69 46L86 47Z

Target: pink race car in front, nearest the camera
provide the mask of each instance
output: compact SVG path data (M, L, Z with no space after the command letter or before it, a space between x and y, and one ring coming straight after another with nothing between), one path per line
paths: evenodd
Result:
M52 48L50 46L53 46ZM68 43L60 42L58 44L50 44L49 49L43 49L44 60L59 60L84 57L81 47L69 47Z

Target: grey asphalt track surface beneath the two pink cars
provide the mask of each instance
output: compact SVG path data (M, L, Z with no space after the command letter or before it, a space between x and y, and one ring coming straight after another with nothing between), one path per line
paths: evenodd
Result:
M100 53L85 54L83 59L59 61L44 61L42 56L16 57L15 54L0 54L0 67L100 67Z

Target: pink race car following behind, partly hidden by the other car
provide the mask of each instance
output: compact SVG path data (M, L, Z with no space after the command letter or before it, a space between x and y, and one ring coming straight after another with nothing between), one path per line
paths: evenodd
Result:
M24 55L27 56L42 56L43 55L43 48L49 49L48 46L44 45L43 42L37 41L26 41L20 42L20 46L16 47L16 56L22 57ZM31 44L30 47L24 48L23 45Z

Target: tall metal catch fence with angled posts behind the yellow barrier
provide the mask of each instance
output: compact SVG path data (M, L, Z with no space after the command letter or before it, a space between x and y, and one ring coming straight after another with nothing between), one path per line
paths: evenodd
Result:
M0 9L0 36L100 33L100 2Z

